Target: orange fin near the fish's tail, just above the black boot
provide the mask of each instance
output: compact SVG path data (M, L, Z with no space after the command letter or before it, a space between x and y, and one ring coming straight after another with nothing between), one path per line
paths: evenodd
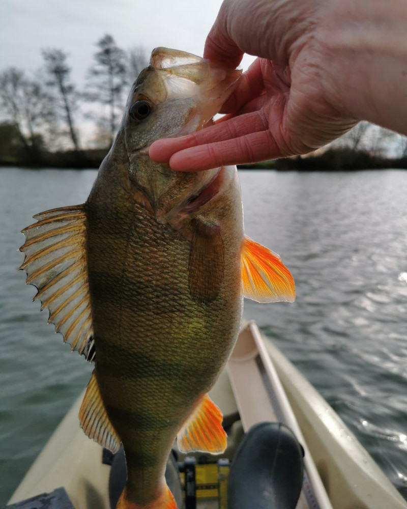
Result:
M199 450L211 454L223 453L227 443L222 419L222 412L206 394L178 434L177 443L180 451L189 453Z

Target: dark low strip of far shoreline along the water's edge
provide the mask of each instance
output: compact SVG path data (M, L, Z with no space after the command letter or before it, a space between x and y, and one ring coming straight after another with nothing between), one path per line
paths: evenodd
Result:
M36 157L11 158L0 154L0 167L88 169L99 168L108 149L82 150L79 152L42 152ZM275 169L278 171L357 171L363 169L407 169L407 156L387 158L364 151L329 149L321 154L288 157L254 164L238 165L239 169Z

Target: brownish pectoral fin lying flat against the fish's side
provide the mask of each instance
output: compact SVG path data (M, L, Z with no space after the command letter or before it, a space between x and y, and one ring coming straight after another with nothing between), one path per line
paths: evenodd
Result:
M224 246L220 227L196 220L188 266L189 291L197 302L212 302L223 280Z

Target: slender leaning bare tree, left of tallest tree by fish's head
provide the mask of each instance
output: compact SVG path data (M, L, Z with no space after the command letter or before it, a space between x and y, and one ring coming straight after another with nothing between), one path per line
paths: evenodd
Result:
M69 82L71 72L66 60L67 54L61 49L47 49L42 52L46 70L50 76L47 84L56 90L60 96L64 109L65 122L68 126L69 135L75 150L79 150L79 141L76 128L73 121L73 109L75 107L75 86Z

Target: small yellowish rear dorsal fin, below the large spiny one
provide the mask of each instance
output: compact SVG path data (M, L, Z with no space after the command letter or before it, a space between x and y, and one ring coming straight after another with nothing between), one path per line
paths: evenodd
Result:
M117 453L120 447L120 438L106 414L95 370L80 406L79 421L80 427L89 438L93 438L98 444L107 447L112 453Z

